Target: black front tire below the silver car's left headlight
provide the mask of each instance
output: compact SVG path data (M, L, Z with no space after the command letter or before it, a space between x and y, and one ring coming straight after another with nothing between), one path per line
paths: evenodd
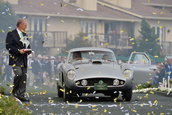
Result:
M72 93L70 93L70 89L64 86L64 92L63 92L63 100L66 101L71 101L72 99Z

